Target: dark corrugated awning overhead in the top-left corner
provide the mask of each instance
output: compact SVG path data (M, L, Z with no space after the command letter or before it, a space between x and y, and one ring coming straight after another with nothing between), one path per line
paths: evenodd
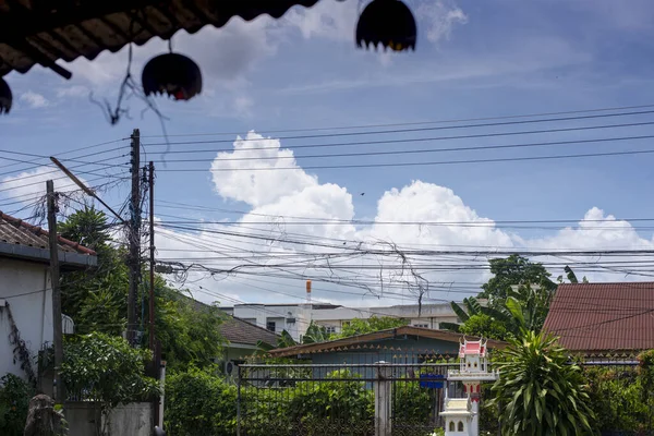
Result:
M138 46L178 31L196 33L205 25L222 27L234 16L251 21L262 14L280 17L293 5L318 0L0 0L0 76L33 65L70 73L58 60L95 59L129 43Z

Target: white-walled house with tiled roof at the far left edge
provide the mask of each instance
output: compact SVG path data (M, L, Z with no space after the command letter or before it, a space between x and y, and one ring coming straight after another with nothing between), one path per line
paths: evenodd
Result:
M0 211L0 377L36 376L38 352L52 343L49 262L48 232ZM62 270L81 269L97 257L59 238L59 262ZM72 320L64 316L62 327L70 331Z

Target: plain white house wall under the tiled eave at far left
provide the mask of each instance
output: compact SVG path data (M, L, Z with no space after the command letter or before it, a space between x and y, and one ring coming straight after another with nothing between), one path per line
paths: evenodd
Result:
M0 257L0 376L12 373L25 377L21 362L13 362L14 346L9 342L11 324L5 304L34 358L36 372L38 351L44 343L52 342L52 291L49 288L47 266Z

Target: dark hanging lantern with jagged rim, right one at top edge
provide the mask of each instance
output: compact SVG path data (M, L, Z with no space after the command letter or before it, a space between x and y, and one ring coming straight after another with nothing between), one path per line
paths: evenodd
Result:
M363 10L356 24L356 46L386 50L415 50L415 19L401 0L373 0Z

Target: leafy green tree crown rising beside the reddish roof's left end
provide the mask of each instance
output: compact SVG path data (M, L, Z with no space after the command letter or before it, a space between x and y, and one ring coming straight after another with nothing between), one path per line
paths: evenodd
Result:
M502 307L513 286L537 286L540 292L547 294L554 293L556 289L556 283L549 279L552 275L543 264L532 263L526 257L512 254L507 258L491 259L489 263L494 277L482 286L483 291L477 298L488 300L491 307Z

